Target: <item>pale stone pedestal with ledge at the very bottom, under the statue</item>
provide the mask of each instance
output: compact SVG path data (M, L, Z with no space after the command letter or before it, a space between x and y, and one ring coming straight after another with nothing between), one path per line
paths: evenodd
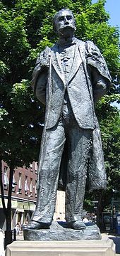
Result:
M115 256L115 245L107 237L81 241L15 241L6 256Z

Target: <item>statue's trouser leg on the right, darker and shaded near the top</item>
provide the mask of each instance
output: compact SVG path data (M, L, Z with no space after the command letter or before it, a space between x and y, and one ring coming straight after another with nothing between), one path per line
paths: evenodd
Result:
M80 220L85 196L90 129L80 129L76 124L68 134L68 174L66 182L66 220Z

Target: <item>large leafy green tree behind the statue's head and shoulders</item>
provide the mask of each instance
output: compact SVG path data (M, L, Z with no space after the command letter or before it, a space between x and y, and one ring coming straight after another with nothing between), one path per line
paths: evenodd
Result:
M30 161L37 160L40 149L40 138L44 122L44 107L37 102L30 87L32 70L35 67L37 54L45 46L52 46L57 40L52 30L52 17L61 8L69 8L76 17L76 36L82 40L92 40L100 48L113 78L109 90L106 108L104 101L98 105L100 120L106 113L108 122L111 102L119 100L119 31L109 26L109 14L104 10L105 0L92 4L91 0L2 0L0 2L0 122L1 122L1 159L11 167L8 191L8 207L4 206L4 190L1 192L7 230L11 230L11 187L15 166L28 166ZM102 130L108 134L103 143L109 144L109 129L106 119L100 121ZM113 134L115 132L115 128ZM117 134L116 134L117 137ZM105 159L110 154L104 150ZM114 153L113 153L114 154ZM114 155L116 159L116 155ZM115 169L115 159L112 159ZM109 161L109 160L106 160ZM118 167L117 167L118 168ZM112 173L108 170L109 175Z

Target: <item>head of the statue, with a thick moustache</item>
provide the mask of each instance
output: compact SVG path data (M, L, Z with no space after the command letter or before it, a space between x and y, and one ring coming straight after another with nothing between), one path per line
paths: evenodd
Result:
M74 33L76 30L76 21L73 13L69 9L61 9L53 18L54 31L60 36L68 33Z

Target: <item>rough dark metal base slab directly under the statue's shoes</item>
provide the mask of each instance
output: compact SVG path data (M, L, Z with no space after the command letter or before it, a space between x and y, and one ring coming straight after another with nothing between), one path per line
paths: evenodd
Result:
M24 240L30 241L65 241L65 240L100 240L100 229L93 223L86 223L84 230L66 228L66 223L54 222L49 229L23 230Z

